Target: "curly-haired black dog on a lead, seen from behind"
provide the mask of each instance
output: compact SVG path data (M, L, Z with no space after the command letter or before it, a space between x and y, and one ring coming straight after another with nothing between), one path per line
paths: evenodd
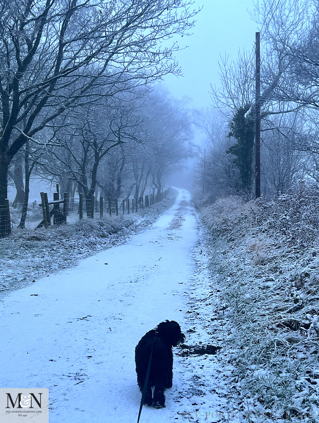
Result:
M165 407L164 391L166 388L170 388L173 385L172 348L184 341L185 335L181 333L179 324L174 320L166 320L160 323L155 329L147 332L137 344L135 348L135 364L137 384L141 392L143 392L146 371L153 345L151 371L144 404L153 405L156 408ZM153 399L152 386L155 386Z

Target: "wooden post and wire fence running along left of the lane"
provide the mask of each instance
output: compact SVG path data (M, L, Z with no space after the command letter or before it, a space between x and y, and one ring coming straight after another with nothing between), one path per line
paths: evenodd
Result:
M0 205L0 237L10 235L13 228L36 229L50 225L63 225L75 223L77 220L89 217L99 219L104 216L118 216L123 214L134 214L153 206L162 201L168 195L169 189L158 194L149 194L138 198L126 198L119 201L111 201L111 198L94 195L85 198L79 194L79 198L69 198L68 193L64 193L60 198L59 186L57 192L53 193L53 199L49 199L47 192L41 192L41 202L33 201L25 207L25 212L21 208L9 206L9 200ZM21 219L21 215L22 219Z

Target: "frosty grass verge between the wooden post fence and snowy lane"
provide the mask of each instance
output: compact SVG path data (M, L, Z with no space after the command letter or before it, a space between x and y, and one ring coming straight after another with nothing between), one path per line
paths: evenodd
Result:
M0 294L21 288L39 277L69 266L79 258L121 244L127 236L148 227L173 205L176 190L160 203L139 213L98 220L78 220L73 225L40 229L15 229L0 239Z

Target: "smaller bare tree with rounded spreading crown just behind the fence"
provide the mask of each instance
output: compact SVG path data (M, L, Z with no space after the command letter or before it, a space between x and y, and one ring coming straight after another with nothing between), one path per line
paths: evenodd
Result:
M49 157L43 164L49 173L57 176L62 169L69 181L76 182L86 198L86 212L91 216L91 199L97 185L99 165L115 147L126 142L139 143L139 118L132 110L108 100L104 107L92 105L86 118L69 120L55 134L55 146L49 146ZM110 107L110 103L115 107ZM57 125L58 126L58 123Z

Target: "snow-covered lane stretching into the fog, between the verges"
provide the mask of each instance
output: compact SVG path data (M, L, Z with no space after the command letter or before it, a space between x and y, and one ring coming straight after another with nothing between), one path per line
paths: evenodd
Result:
M4 298L1 387L49 387L50 423L136 421L138 340L165 319L186 333L198 226L185 201L179 190L150 229ZM143 407L141 423L188 421L176 410L191 376L179 359L166 408Z

